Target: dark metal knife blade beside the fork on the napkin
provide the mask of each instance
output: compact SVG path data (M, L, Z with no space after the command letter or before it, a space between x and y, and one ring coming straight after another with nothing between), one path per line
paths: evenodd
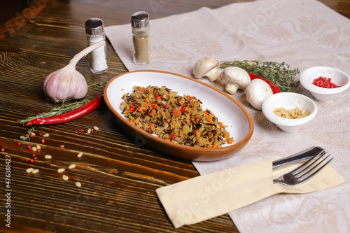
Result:
M303 160L307 160L311 158L312 156L321 153L323 148L319 146L311 146L310 148L306 150L302 150L298 153L295 153L293 155L289 155L287 157L283 157L279 160L274 160L272 162L272 169L278 169L279 167L286 166L288 164L293 164L294 162L300 162Z

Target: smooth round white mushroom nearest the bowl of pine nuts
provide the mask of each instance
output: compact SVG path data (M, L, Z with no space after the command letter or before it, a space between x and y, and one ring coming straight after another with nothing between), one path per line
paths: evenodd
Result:
M270 95L274 94L271 87L261 79L253 79L246 87L246 100L254 108L261 110L262 102Z

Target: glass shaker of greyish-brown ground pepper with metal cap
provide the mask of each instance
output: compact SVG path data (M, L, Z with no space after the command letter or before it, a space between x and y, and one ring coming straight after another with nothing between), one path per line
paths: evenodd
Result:
M150 32L148 13L145 11L134 13L131 21L132 41L134 43L134 64L148 64L151 62L148 39Z

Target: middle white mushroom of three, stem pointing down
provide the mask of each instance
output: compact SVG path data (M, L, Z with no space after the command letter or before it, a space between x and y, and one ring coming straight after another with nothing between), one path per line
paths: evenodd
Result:
M227 92L235 94L238 89L246 89L246 86L251 82L251 77L244 69L228 66L221 72L218 81L226 85L225 90Z

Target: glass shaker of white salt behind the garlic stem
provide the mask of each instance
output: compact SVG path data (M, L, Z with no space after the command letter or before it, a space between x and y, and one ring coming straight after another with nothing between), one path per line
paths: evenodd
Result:
M106 40L104 22L97 17L93 17L85 22L85 32L87 45L93 45L99 41ZM90 52L89 56L90 71L92 73L104 73L108 71L106 44Z

